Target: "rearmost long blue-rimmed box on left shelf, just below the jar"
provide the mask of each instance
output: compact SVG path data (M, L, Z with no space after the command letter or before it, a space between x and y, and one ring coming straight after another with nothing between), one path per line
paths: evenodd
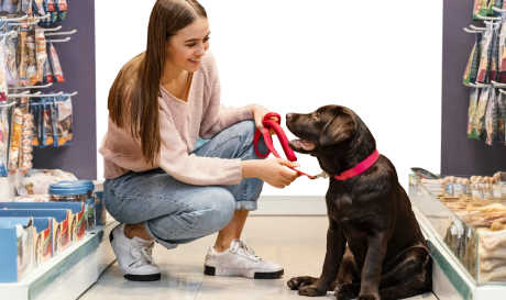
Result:
M85 236L85 203L82 202L0 202L1 209L28 209L28 210L69 210L65 227L57 232L54 229L55 238L61 238L61 243L53 244L63 251ZM52 216L52 215L34 215ZM56 220L56 222L59 222ZM59 233L59 234L57 234ZM53 256L59 252L53 252Z

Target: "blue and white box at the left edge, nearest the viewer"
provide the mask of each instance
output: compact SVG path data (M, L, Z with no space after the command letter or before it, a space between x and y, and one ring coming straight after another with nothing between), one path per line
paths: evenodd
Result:
M0 282L18 282L33 270L32 218L0 218Z

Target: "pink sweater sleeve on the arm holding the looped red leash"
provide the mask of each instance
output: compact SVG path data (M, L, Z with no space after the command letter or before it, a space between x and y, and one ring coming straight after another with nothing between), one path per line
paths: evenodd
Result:
M221 131L244 120L253 119L251 103L241 107L220 104L220 82L215 59L207 59L209 85L211 90L207 110L200 122L199 136L204 140L215 137Z

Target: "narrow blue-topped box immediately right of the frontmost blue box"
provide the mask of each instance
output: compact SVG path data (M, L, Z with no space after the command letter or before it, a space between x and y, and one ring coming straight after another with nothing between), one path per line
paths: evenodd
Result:
M53 223L54 218L32 218L35 233L35 264L38 267L42 263L47 262L53 256Z

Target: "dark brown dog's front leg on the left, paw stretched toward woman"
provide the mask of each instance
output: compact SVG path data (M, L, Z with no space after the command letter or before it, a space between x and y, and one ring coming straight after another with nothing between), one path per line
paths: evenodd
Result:
M295 281L299 281L301 277L295 277L288 281L288 286L292 289L298 288L298 295L300 296L312 297L327 295L327 291L330 290L330 285L338 277L345 246L346 241L341 225L337 221L330 219L330 225L327 232L327 254L320 278L310 286L299 288L300 284L296 285Z

